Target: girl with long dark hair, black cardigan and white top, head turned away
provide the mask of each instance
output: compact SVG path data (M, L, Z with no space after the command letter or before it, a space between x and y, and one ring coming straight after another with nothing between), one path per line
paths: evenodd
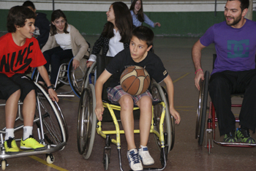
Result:
M102 34L94 43L87 67L96 61L97 55L102 49L103 56L116 56L118 52L129 47L129 39L132 34L132 16L127 4L117 1L110 5L107 20Z

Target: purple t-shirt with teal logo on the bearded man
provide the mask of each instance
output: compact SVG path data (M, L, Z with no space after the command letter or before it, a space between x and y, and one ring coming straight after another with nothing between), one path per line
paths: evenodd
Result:
M200 42L204 46L215 44L217 58L215 72L255 69L256 22L246 20L241 28L227 26L226 21L208 28Z

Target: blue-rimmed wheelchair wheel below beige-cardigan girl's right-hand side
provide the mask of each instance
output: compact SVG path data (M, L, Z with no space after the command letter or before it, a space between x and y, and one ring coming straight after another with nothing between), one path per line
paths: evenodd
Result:
M74 91L75 95L77 95L79 98L81 96L81 93L83 91L83 77L86 75L86 58L82 58L80 60L80 66L78 66L77 69L74 69L72 66L73 59L69 61L68 66L68 79L69 79L69 85L72 88L72 91Z

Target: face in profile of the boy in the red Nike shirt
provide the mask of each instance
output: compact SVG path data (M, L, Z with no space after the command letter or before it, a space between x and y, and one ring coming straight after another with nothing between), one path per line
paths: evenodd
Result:
M29 38L31 39L34 34L34 18L26 19L25 26L20 27L16 26L16 32L19 33L20 37L23 37L24 39Z

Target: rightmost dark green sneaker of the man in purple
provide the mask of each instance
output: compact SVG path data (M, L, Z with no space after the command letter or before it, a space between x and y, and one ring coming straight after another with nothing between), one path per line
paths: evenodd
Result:
M249 134L249 129L236 129L236 137L238 139L238 142L244 142L244 143L250 143L255 144L255 139L251 137Z

